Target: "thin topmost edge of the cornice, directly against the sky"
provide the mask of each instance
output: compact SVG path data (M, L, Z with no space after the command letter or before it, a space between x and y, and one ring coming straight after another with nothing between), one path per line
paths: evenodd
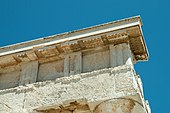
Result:
M4 47L0 48L0 56L20 52L22 50L24 51L24 49L21 49L21 48L25 48L26 50L29 50L32 46L44 45L45 43L48 43L50 41L56 40L55 42L58 42L57 40L59 40L62 36L64 36L64 38L70 38L71 36L68 36L68 35L79 36L79 35L76 35L76 33L78 33L78 32L85 32L85 31L86 32L87 31L94 32L93 30L95 30L95 29L100 29L100 28L107 27L107 26L110 27L111 25L114 25L116 27L116 26L120 26L121 24L125 25L125 24L129 24L129 23L133 23L133 22L138 22L139 25L142 26L141 17L138 15L138 16L134 16L134 17L130 17L130 18L125 18L125 19L121 19L121 20L117 20L117 21L99 24L96 26L90 26L87 28L79 29L79 30L73 30L70 32L51 35L51 36L47 36L47 37L43 37L43 38L39 38L39 39L35 39L35 40L30 40L30 41L26 41L26 42L22 42L22 43L17 43L17 44L13 44L13 45L9 45L9 46L4 46ZM103 28L103 29L105 29L105 28ZM86 34L86 33L83 33L83 34ZM53 39L54 37L55 37L55 40ZM48 40L48 41L45 41L45 40ZM16 51L19 49L21 49L21 50Z

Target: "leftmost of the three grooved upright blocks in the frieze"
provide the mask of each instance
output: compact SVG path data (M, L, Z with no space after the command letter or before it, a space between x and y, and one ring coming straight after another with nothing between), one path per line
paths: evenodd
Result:
M36 82L38 66L38 61L32 61L22 64L19 85L25 85Z

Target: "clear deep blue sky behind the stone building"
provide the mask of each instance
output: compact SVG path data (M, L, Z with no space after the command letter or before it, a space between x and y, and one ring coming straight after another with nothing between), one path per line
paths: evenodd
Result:
M0 0L0 46L141 15L150 53L135 65L152 113L170 113L170 1Z

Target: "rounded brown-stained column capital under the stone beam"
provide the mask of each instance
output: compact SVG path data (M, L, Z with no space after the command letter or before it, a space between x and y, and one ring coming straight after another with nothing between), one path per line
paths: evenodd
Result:
M94 113L145 113L143 106L132 99L111 99L96 106Z

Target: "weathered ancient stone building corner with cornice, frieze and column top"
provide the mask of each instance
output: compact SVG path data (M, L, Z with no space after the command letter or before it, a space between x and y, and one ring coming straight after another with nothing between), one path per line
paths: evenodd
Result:
M139 16L0 48L0 113L151 113Z

